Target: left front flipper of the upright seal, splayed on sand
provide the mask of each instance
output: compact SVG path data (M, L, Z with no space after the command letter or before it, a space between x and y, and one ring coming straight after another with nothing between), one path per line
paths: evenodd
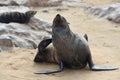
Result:
M35 72L35 74L51 74L51 73L57 73L57 72L63 71L63 69L64 69L64 66L63 66L63 63L61 62L61 63L60 63L60 67L59 67L58 70L41 70L41 71Z

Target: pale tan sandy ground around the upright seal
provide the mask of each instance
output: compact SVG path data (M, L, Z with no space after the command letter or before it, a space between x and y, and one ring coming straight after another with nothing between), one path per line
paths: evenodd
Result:
M120 25L91 14L81 8L69 8L66 11L38 12L39 18L52 22L56 14L63 15L70 28L78 34L88 34L89 45L96 65L120 66ZM120 80L120 70L90 71L88 67L80 70L65 69L50 75L36 75L37 70L56 69L55 64L33 62L36 50L15 48L0 53L0 80Z

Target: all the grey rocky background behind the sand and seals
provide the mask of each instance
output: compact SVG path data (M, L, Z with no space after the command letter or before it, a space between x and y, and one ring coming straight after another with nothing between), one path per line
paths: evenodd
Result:
M30 7L45 7L42 12L49 10L68 10L59 6L82 7L86 13L115 23L120 23L120 3L92 6L84 0L0 0L0 14L6 12L23 12L31 10ZM14 47L37 48L39 42L45 37L51 37L52 23L32 17L27 24L0 23L0 51L11 50Z

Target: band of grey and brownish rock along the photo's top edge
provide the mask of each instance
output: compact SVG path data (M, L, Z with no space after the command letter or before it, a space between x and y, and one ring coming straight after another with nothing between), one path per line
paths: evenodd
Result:
M81 7L86 5L83 0L1 0L1 6L29 6L29 7L56 7L67 5L69 7Z

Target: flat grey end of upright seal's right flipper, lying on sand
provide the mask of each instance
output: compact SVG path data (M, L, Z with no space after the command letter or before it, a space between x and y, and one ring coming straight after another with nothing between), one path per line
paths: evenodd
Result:
M112 66L92 66L90 68L92 71L110 71L110 70L116 70L118 69L117 67L112 67Z

